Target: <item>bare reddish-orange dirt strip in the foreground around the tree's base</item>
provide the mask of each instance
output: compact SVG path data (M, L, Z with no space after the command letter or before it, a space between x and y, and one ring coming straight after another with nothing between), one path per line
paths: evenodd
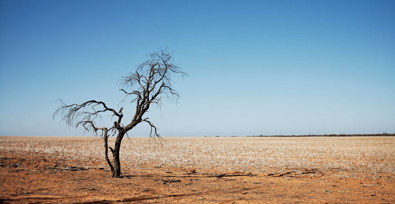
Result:
M146 166L112 178L103 162L0 153L0 203L395 203L390 174L291 170L278 174ZM275 170L274 170L275 171ZM352 175L352 176L348 176Z

